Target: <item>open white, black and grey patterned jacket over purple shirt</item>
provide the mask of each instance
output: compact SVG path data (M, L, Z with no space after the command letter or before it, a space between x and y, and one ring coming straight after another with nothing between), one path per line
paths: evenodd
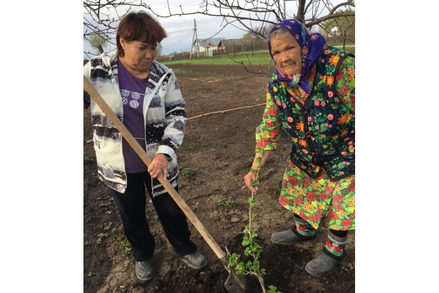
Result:
M123 121L117 50L92 58L84 65L84 76ZM86 102L84 94L84 107L88 106ZM143 103L146 153L151 159L156 153L166 153L172 157L167 179L173 187L177 186L179 180L176 151L183 142L186 124L184 106L175 74L165 65L154 61ZM121 134L93 100L90 101L90 108L98 176L110 188L124 193L126 173ZM159 180L152 181L153 196L166 192Z

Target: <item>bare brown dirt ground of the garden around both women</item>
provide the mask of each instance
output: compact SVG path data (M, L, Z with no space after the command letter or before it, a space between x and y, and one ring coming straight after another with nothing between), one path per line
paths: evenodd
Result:
M239 110L189 119L183 145L178 151L180 171L195 174L180 176L180 195L200 222L225 251L242 253L242 230L248 224L247 199L243 176L255 152L255 128L259 125L265 102L267 74L249 74L241 65L175 65L175 69L211 72L211 77L177 74L188 118L220 110L253 106ZM157 220L152 204L146 206L150 229L156 237L154 266L156 277L148 282L136 278L134 261L123 234L119 212L109 188L96 171L90 123L90 110L84 110L84 292L85 293L220 293L228 273L214 251L189 222L191 239L209 265L200 271L176 259ZM263 169L256 218L262 246L260 266L266 270L266 287L274 285L283 293L355 292L355 231L349 232L348 260L333 272L316 278L305 272L305 264L319 254L326 231L318 230L315 244L279 246L270 235L292 225L292 214L279 205L278 179L283 174L289 143L282 135L278 151ZM251 293L262 292L254 276L246 277Z

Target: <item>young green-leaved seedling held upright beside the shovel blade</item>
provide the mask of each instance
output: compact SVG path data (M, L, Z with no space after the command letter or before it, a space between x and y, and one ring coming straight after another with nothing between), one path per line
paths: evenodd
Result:
M264 143L262 142L262 146ZM252 180L251 185L252 186L258 186L260 184L259 177L261 174L262 164L261 160L264 156L264 149L262 147L257 148L257 152L260 153L260 156L256 158L256 162L258 163L258 166L256 169L251 168L250 171L253 172L256 175L256 179ZM239 261L239 255L236 252L233 252L230 254L230 252L227 250L227 255L229 256L229 267L234 268L238 274L245 274L245 275L254 275L258 278L259 284L262 288L263 293L281 293L280 291L277 291L277 287L270 285L268 286L268 291L265 288L263 275L265 274L265 270L260 268L260 262L259 257L260 253L262 252L262 247L256 242L256 237L258 236L258 230L252 229L252 220L255 219L255 214L252 213L252 207L256 206L256 196L253 194L252 191L251 196L248 199L249 202L249 210L248 210L248 225L245 226L243 232L244 237L242 239L242 246L245 248L244 255L246 255L250 260L248 260L246 263L243 261Z

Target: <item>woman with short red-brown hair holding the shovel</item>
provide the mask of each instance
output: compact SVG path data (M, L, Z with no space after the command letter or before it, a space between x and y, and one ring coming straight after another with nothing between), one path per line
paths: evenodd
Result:
M151 280L154 236L145 216L145 187L176 256L193 269L207 265L190 240L186 216L160 184L165 179L177 189L186 112L174 73L154 60L158 43L166 37L160 23L143 11L120 21L117 49L84 65L84 75L146 150L149 167L121 137L98 105L91 101L93 141L100 180L111 190L123 230L131 244L137 277ZM84 97L84 107L90 103Z

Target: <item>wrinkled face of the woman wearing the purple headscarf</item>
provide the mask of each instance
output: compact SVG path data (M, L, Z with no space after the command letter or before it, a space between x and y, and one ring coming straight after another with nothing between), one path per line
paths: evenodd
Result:
M295 75L302 70L302 50L292 34L274 35L270 45L274 62L283 73Z

